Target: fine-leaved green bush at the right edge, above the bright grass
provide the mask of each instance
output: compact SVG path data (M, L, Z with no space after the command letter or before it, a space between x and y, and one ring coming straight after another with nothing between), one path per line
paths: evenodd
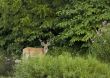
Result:
M110 62L110 27L103 27L101 30L102 35L96 35L89 50L99 59Z

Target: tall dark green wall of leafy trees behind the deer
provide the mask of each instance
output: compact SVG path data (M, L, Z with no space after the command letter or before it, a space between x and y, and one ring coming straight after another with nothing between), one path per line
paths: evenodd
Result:
M52 46L88 47L109 19L109 0L0 0L0 50L21 54L39 46L38 38Z

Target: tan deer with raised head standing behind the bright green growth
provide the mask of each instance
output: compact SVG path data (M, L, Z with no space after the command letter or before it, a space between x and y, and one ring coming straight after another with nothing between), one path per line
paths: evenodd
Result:
M36 56L44 56L48 52L48 46L50 42L44 43L39 39L43 48L33 48L27 47L23 49L23 58L36 57Z

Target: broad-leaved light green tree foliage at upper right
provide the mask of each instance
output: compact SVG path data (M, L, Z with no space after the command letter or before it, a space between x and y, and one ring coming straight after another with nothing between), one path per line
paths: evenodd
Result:
M101 25L101 21L109 19L105 17L109 13L110 9L105 1L71 1L71 5L67 4L57 12L60 19L57 26L64 29L59 38L70 38L70 45L76 41L86 42L93 37L93 30Z

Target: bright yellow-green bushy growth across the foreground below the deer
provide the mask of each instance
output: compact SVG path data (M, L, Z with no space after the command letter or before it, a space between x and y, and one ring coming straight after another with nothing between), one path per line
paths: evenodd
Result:
M17 65L15 78L109 78L110 67L95 58L56 57L33 58Z

